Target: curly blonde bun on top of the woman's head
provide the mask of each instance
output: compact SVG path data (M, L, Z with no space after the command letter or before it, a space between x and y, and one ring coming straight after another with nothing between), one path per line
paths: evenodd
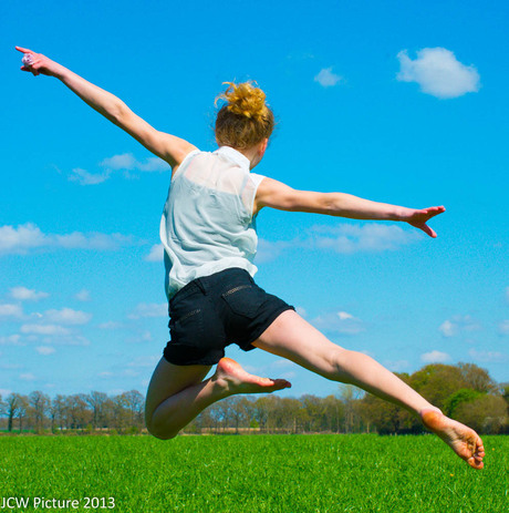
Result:
M228 84L228 89L217 100L226 100L230 112L254 120L261 120L267 115L266 93L256 86L256 82L224 83Z

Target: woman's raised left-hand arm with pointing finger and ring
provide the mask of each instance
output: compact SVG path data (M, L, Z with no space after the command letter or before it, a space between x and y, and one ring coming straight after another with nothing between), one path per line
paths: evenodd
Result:
M148 151L165 160L172 167L179 165L189 152L196 150L196 146L183 138L155 130L136 115L121 99L87 82L42 53L35 53L21 47L15 47L15 49L23 54L30 53L32 55L32 63L23 65L22 71L29 71L35 76L39 74L55 76L92 109L122 130L125 130Z

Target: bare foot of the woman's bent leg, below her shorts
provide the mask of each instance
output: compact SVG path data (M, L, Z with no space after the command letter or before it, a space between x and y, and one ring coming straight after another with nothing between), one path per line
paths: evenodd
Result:
M231 358L221 358L219 360L212 380L225 390L227 396L233 393L268 393L291 387L291 383L285 379L269 379L250 375Z

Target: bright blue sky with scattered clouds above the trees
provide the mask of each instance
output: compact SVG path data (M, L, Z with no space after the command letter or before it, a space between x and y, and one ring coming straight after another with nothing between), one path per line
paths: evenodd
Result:
M214 99L257 80L278 119L256 172L295 188L445 205L409 226L264 209L260 286L392 370L467 361L508 381L508 9L442 2L24 2L0 20L0 393L145 392L167 341L169 167L14 45L160 131L215 150ZM227 355L337 390L256 350Z

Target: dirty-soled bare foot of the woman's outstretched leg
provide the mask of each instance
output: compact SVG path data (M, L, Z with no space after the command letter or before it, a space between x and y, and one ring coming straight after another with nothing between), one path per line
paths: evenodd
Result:
M444 440L461 460L474 469L482 469L485 448L482 440L472 429L435 410L423 410L420 419L423 424Z

